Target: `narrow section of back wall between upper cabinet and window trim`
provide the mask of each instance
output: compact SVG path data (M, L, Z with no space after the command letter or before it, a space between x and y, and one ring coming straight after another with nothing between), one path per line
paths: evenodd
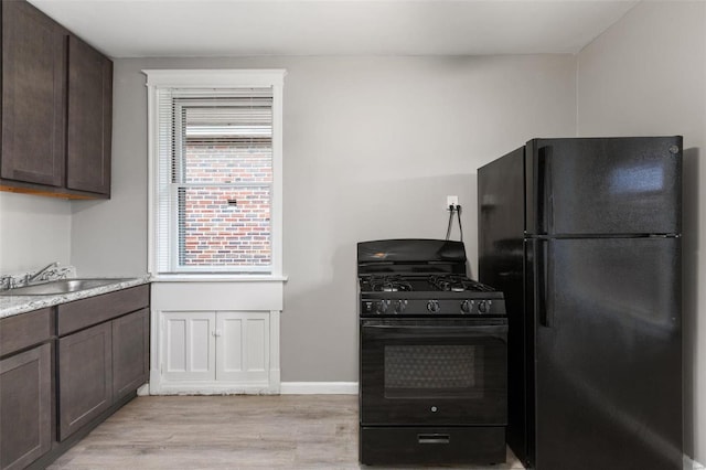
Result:
M145 75L114 61L109 201L75 201L72 261L82 276L147 273L147 88Z

